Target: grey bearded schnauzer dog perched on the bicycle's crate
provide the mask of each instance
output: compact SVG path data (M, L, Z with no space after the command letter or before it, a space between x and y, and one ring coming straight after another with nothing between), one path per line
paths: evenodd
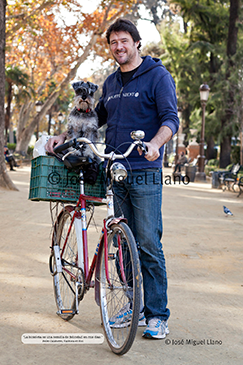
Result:
M98 85L92 82L78 81L72 84L75 91L74 108L68 117L67 140L85 137L96 142L98 139L98 117L94 111L94 93ZM77 154L96 159L88 145L84 145Z

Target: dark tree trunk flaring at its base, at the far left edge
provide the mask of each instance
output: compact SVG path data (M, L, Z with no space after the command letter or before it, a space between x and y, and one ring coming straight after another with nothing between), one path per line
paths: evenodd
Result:
M0 1L0 187L18 190L11 181L4 159L4 95L5 95L5 15L6 1Z

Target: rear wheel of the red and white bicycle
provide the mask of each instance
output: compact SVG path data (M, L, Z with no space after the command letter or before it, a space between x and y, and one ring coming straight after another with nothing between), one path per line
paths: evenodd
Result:
M53 267L53 286L54 295L57 305L57 314L65 321L69 321L76 314L76 282L79 281L83 283L83 274L81 269L77 265L77 238L74 224L72 225L68 241L63 250L63 246L66 240L67 232L70 228L70 223L72 220L72 215L70 210L63 210L59 221L57 223L56 232L56 244L60 247L60 253L62 253L62 267L70 271L76 280L71 277L64 269L61 273L55 273L55 262ZM55 261L55 260L54 260ZM79 289L81 294L81 289ZM78 298L78 303L81 300L81 296ZM65 314L63 311L70 311L71 313Z

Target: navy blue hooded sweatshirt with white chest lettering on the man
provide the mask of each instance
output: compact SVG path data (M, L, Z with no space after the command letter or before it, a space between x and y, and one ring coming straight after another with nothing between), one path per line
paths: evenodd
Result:
M178 130L174 80L161 60L150 56L142 58L142 64L124 86L120 68L104 83L96 112L99 126L107 123L106 153L115 148L116 153L124 153L132 142L130 133L134 130L145 132L145 142L149 142L161 126L169 127L173 135ZM160 168L163 153L164 146L156 161L148 161L134 148L128 160L133 170ZM125 160L121 162L128 166Z

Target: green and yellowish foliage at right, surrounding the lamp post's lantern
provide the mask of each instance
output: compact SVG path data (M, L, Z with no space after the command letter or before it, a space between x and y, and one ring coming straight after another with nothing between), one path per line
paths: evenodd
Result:
M207 82L211 91L206 105L205 140L213 137L221 143L225 136L238 136L238 120L243 114L243 8L239 10L237 23L237 53L229 58L228 25L232 5L229 0L171 0L170 4L177 6L184 28L171 20L162 23L160 32L165 53L161 59L176 81L184 131L196 128L200 133L199 86Z

